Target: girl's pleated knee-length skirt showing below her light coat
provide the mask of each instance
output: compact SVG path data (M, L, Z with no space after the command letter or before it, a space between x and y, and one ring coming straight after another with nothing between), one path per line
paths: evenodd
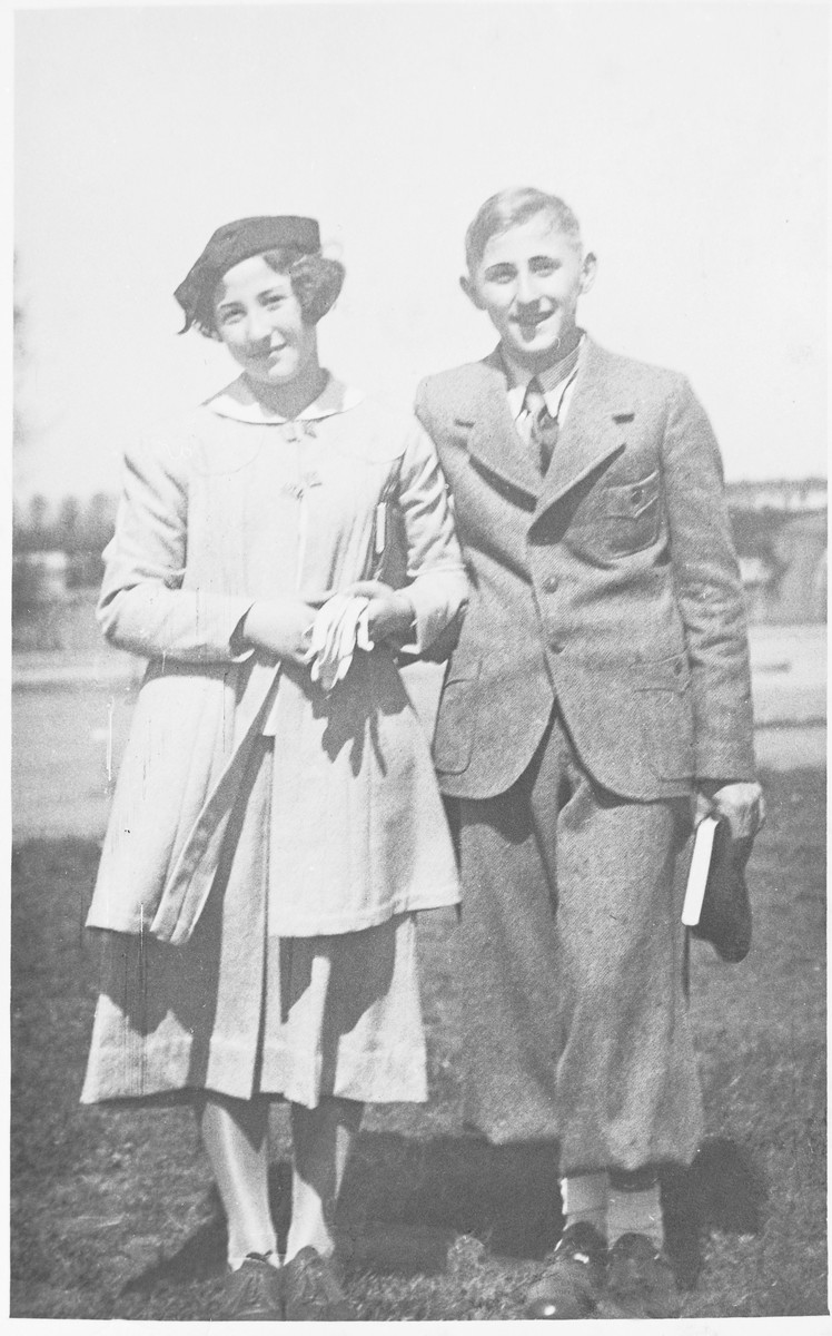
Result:
M268 934L271 743L243 786L191 941L97 934L83 1104L188 1090L310 1109L327 1096L427 1098L415 916L327 937Z

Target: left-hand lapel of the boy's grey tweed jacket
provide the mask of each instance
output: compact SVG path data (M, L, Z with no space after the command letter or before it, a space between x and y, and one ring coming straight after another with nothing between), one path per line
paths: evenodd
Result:
M481 363L482 371L470 406L457 415L457 428L467 430L467 450L482 469L533 500L541 493L544 480L524 446L506 397L506 374L498 353Z

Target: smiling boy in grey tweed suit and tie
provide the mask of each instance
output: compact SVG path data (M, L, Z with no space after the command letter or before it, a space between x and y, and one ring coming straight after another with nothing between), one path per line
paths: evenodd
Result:
M462 289L498 347L417 411L471 577L434 759L458 826L469 1121L557 1140L566 1228L526 1316L670 1316L658 1166L702 1110L676 863L694 808L763 820L717 445L684 377L577 325L558 198L489 199Z

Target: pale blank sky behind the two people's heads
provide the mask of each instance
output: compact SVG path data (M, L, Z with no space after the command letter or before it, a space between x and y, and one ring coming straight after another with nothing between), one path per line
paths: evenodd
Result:
M311 214L346 265L322 361L394 405L485 355L458 286L494 191L561 194L581 323L685 371L729 480L825 474L825 4L19 8L19 500L115 492L235 375L172 291L222 223Z

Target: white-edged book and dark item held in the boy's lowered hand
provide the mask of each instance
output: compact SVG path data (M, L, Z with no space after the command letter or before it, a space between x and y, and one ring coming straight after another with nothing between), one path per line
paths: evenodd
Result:
M745 864L752 844L752 838L735 839L728 822L714 816L705 816L693 836L682 923L732 963L744 961L751 949Z

